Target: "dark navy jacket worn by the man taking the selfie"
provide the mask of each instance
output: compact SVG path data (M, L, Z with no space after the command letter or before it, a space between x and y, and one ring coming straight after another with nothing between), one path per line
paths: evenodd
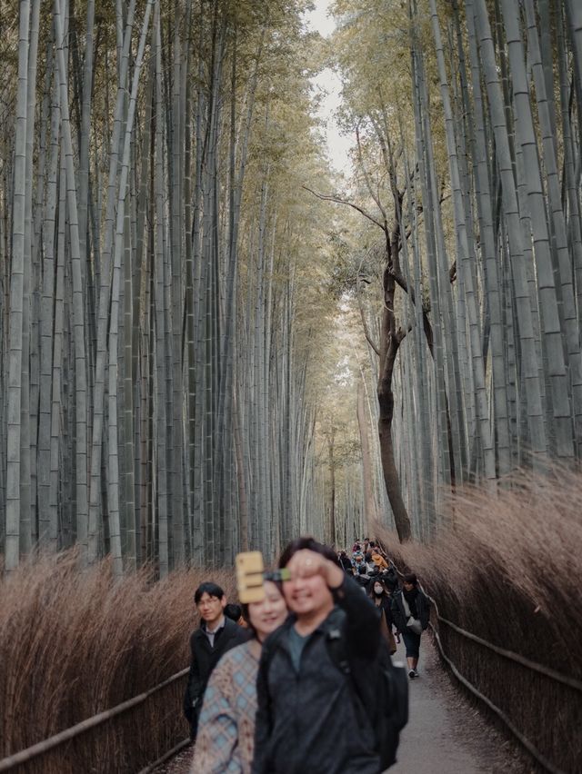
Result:
M350 663L374 659L380 644L379 616L354 581L335 592L336 607L309 635L300 669L293 666L291 615L263 646L256 681L253 774L377 774L374 732L331 660L327 640L341 636Z

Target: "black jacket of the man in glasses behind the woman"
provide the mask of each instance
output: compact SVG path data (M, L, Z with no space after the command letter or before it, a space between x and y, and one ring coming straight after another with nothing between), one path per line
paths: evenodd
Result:
M204 624L190 636L190 673L184 694L184 714L190 723L190 736L196 737L198 716L210 673L226 650L235 648L249 639L249 632L238 626L234 620L225 618L223 629L216 632L214 647L206 637Z

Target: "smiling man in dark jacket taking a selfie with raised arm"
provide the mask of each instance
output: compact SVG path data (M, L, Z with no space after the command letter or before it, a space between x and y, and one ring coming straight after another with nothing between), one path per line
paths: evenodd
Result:
M279 566L291 571L292 615L263 645L253 774L377 774L374 730L329 648L341 637L350 663L373 660L376 608L312 538L287 546Z

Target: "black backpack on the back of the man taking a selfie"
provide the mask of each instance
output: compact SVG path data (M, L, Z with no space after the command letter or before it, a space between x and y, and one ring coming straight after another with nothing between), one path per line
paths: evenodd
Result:
M376 739L382 771L396 763L400 731L408 722L408 680L404 666L392 663L386 643L380 641L376 658L350 664L340 630L327 633L327 652L346 675L354 705L363 708ZM366 691L366 687L370 690Z

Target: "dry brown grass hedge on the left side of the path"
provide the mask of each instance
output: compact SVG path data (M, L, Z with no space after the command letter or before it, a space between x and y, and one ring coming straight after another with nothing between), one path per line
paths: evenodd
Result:
M147 571L115 581L108 562L79 572L75 552L0 581L0 759L154 688L188 665L194 591L228 571ZM188 732L185 680L18 772L137 771Z

